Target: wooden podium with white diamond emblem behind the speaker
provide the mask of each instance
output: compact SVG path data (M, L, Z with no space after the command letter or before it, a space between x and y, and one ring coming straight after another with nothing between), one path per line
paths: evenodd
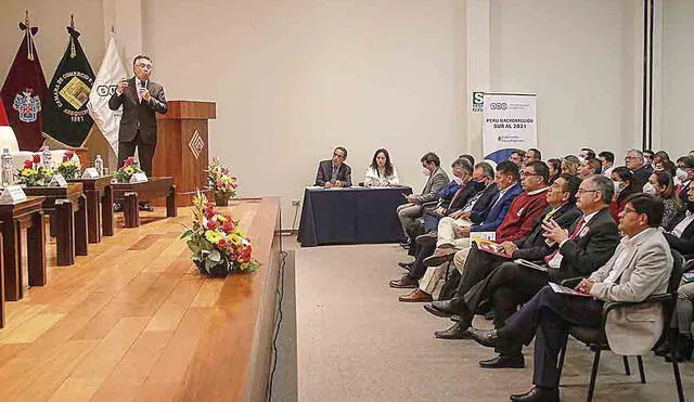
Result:
M152 174L172 177L177 187L176 206L185 207L191 205L196 189L207 187L207 120L217 117L217 109L215 102L168 101L167 104L168 112L156 115L157 145ZM160 206L160 203L154 205Z

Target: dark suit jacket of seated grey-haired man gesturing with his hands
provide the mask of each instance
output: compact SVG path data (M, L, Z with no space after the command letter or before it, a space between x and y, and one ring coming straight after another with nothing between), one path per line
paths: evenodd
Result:
M579 221L580 218L571 224L568 229L569 233L574 232ZM620 236L609 209L600 210L586 226L588 228L586 235L567 241L560 249L563 256L562 263L558 270L550 269L552 282L558 283L569 277L588 276L604 265L615 254Z

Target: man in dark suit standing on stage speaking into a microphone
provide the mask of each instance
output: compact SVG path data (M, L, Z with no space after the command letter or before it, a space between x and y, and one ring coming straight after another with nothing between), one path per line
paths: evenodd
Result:
M152 157L156 147L155 113L166 113L166 98L164 87L150 80L152 60L149 56L136 56L132 69L134 77L118 82L116 92L108 100L112 111L123 105L118 130L118 166L133 156L137 147L140 167L147 177L152 177ZM140 205L140 209L153 210L146 202Z

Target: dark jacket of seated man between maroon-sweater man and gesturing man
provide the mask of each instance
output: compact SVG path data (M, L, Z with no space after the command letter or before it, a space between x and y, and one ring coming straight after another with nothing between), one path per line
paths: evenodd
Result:
M542 236L542 233L544 233L542 220L551 210L552 207L547 207L540 218L535 221L532 232L514 242L518 249L513 252L513 259L523 258L524 260L535 261L552 254L553 248L548 246L544 242L545 237ZM580 216L582 216L582 212L576 208L576 204L565 204L554 212L552 219L560 226L568 230Z

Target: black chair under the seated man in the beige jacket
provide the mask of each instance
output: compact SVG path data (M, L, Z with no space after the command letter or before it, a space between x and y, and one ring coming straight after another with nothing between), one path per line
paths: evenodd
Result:
M607 336L605 335L605 320L607 317L607 314L612 310L622 308L626 306L638 306L638 304L652 303L652 302L663 303L663 315L665 321L664 336L668 338L668 341L670 342L670 345L673 345L672 342L674 341L674 339L671 338L671 332L668 330L668 327L670 323L670 317L672 316L672 312L674 310L674 302L677 300L677 289L680 286L680 280L682 278L682 274L684 273L684 259L676 250L672 250L672 258L674 259L674 263L672 265L672 272L670 273L670 280L668 282L667 294L651 296L639 303L607 302L603 307L603 320L602 320L601 327L599 328L591 328L591 327L583 327L583 326L569 327L569 330L568 330L569 335L578 339L579 341L586 343L594 352L593 368L590 374L590 385L588 386L588 397L586 398L588 402L591 402L593 400L593 392L595 390L595 378L597 377L597 366L600 363L600 353L603 350L609 350L609 345L607 343ZM578 285L581 278L582 277L563 281L562 284L564 286L574 287ZM562 369L564 367L564 358L566 355L567 343L568 343L568 338L567 338L567 342L564 343L564 347L562 348L562 351L560 353L558 367L557 367L560 373L560 380L562 378ZM622 358L625 363L625 371L627 372L627 375L630 375L631 371L629 369L629 360L627 356L622 356ZM643 371L643 360L639 355L637 356L637 361L639 363L639 374L641 376L641 382L645 384L646 376ZM674 360L672 360L672 372L674 374L674 382L677 385L677 393L678 393L679 400L680 402L684 402L684 391L682 389L682 378L680 376L680 368L679 368L678 362Z

